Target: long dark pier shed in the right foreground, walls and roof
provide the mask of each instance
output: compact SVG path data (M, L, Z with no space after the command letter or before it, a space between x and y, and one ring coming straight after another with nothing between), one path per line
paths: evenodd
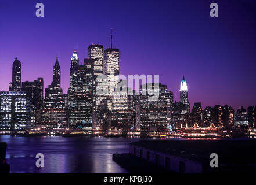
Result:
M256 140L157 140L129 144L129 154L177 173L256 172ZM211 158L217 154L217 158ZM218 167L211 167L211 160Z

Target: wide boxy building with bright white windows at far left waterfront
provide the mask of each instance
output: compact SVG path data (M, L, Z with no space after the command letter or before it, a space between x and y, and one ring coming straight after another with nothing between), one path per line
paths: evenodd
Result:
M0 130L26 131L31 128L31 98L26 92L0 92Z

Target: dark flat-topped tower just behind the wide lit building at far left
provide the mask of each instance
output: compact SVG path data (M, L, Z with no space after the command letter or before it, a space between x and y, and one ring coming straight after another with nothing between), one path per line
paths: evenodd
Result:
M27 92L27 96L32 100L32 114L31 114L31 127L40 128L42 120L42 102L44 101L43 96L44 80L38 78L33 82L22 82L21 91Z

